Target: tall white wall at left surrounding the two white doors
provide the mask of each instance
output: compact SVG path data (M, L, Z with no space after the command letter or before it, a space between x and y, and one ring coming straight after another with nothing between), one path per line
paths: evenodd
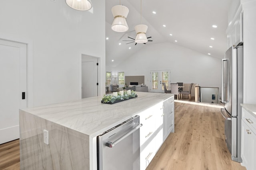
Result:
M78 11L65 0L0 1L0 38L28 43L28 106L81 98L81 56L100 57L105 92L105 1ZM34 102L34 104L32 104Z

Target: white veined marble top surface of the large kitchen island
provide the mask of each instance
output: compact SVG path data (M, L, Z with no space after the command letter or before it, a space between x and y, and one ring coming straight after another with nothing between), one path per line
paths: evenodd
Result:
M102 96L22 109L48 121L96 137L173 94L136 92L138 98L102 104Z

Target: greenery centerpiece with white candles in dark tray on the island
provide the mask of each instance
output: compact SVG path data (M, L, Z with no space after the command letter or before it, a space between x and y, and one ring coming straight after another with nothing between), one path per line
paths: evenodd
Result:
M115 104L118 102L122 102L125 100L129 100L132 98L138 97L136 92L133 90L127 90L127 91L120 91L120 92L113 92L113 94L104 95L102 98L101 103L105 104Z

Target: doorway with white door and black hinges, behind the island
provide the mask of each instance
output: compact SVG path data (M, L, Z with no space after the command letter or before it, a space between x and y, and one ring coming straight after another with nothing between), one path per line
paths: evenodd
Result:
M97 57L82 55L82 98L98 96L98 63Z

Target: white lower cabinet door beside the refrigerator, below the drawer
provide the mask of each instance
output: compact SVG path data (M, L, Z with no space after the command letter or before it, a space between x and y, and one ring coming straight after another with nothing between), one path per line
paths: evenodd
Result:
M241 157L242 165L246 169L251 170L252 168L252 135L250 133L250 128L242 121L242 131L241 131ZM255 161L254 161L255 162Z

